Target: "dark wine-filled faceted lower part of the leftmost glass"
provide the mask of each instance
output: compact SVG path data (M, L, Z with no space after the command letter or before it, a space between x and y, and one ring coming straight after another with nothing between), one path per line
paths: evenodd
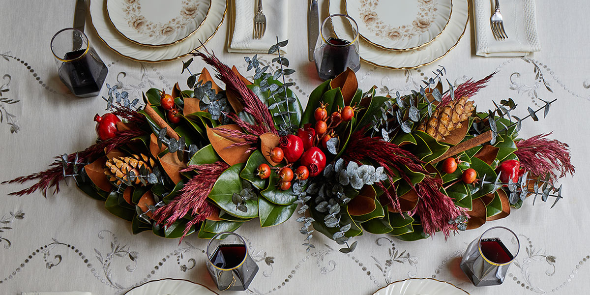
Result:
M76 50L65 54L64 60L74 60L86 50ZM61 81L79 97L97 96L109 70L93 48L78 60L61 64L58 74Z

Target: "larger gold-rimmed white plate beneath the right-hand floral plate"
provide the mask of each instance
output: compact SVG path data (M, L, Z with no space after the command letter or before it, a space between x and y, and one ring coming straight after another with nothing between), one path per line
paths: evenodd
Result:
M467 0L452 0L453 11L447 27L430 44L408 51L391 51L375 47L359 38L360 58L376 67L406 70L433 63L451 51L458 44L467 27L469 4ZM345 0L329 0L331 14L343 14ZM340 24L340 27L349 27Z

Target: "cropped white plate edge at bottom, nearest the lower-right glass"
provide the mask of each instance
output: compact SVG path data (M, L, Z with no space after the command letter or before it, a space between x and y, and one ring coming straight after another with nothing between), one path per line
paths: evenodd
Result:
M373 295L469 295L467 291L434 278L408 278L377 290Z

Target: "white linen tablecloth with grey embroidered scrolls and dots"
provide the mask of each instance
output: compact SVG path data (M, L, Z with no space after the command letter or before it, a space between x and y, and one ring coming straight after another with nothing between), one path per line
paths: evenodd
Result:
M93 0L98 1L98 0ZM78 99L67 94L57 78L49 48L55 32L69 27L75 1L4 0L0 2L0 180L47 168L55 155L82 150L96 139L93 117L104 113L99 97ZM325 17L327 1L320 3ZM540 4L540 3L539 3ZM588 199L588 110L590 57L588 36L579 20L590 4L582 0L537 6L543 51L526 58L482 58L474 55L473 25L456 48L436 63L418 70L383 70L363 63L357 73L362 89L378 86L379 94L407 93L421 84L438 65L447 69L453 84L468 78L496 76L476 97L478 110L491 99L512 97L521 105L541 106L539 99L558 101L546 119L526 121L521 136L553 132L569 143L576 175L561 179L565 198L555 208L527 199L505 219L462 232L447 241L442 235L402 242L386 235L365 234L351 254L342 254L335 242L314 235L316 248L305 252L300 225L291 218L277 227L260 229L248 222L237 232L247 238L260 271L247 294L360 294L371 295L393 281L434 277L450 281L471 294L587 294L590 284L590 200ZM287 57L293 90L306 104L320 81L307 61L306 2L289 1ZM556 21L559 20L559 25ZM150 87L169 90L176 81L186 88L181 61L137 63L110 51L87 22L90 42L109 67L107 83L119 84L130 96L140 97ZM576 32L575 34L573 32ZM225 48L227 21L208 42L209 50L227 64L245 72L244 54ZM253 55L253 54L251 54ZM260 55L270 61L271 57ZM185 58L183 60L186 60ZM192 67L204 63L195 60ZM251 75L247 73L247 75ZM103 87L101 96L106 95ZM538 97L538 98L537 98ZM11 114L9 116L7 114ZM11 132L12 131L12 132ZM16 132L18 131L18 132ZM130 222L109 214L103 202L79 191L70 182L58 195L40 193L8 196L24 186L0 185L0 293L37 290L87 290L93 294L123 294L131 287L159 278L186 278L215 289L205 269L205 240L196 235L166 240L150 232L133 235ZM457 272L457 257L467 244L493 225L512 228L521 241L521 253L501 286L473 287ZM224 294L243 294L224 292Z

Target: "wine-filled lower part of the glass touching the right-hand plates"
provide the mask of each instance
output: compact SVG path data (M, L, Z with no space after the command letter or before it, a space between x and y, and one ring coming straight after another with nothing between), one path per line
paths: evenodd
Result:
M333 79L347 67L353 71L360 68L358 48L350 41L330 37L314 54L316 70L322 80Z

